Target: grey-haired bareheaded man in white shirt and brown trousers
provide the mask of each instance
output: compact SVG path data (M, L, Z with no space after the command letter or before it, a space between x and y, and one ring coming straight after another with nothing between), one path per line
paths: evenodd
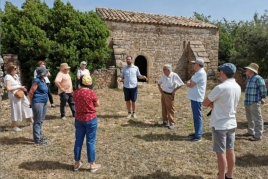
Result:
M175 93L179 88L184 85L184 83L176 73L172 72L171 65L165 64L163 67L163 72L164 74L158 81L158 89L161 93L163 119L163 123L161 124L161 126L167 126L169 129L174 129Z

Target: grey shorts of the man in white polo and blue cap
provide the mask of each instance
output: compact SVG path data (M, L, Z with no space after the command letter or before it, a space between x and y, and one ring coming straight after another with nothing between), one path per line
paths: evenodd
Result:
M213 151L224 153L226 149L234 149L235 128L228 130L215 130L212 128Z

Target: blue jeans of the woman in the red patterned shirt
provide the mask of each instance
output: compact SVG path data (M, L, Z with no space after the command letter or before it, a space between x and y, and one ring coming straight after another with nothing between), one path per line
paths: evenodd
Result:
M98 128L98 118L90 121L81 122L75 119L75 144L74 144L74 160L79 161L81 158L81 150L86 135L87 158L88 162L95 162L96 152L95 143Z

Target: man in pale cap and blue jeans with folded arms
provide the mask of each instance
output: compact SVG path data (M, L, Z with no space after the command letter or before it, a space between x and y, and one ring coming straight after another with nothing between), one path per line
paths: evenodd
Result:
M195 74L192 76L191 80L187 81L187 98L191 100L195 132L189 134L189 137L191 137L192 142L198 142L202 139L203 134L202 102L206 93L207 73L203 68L203 59L196 59L192 61L192 64Z

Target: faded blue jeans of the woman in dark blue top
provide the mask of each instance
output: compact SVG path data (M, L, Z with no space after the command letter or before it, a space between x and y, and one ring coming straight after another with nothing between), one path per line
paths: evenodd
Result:
M42 125L47 113L47 103L35 103L33 109L33 138L34 142L40 142L42 139Z

